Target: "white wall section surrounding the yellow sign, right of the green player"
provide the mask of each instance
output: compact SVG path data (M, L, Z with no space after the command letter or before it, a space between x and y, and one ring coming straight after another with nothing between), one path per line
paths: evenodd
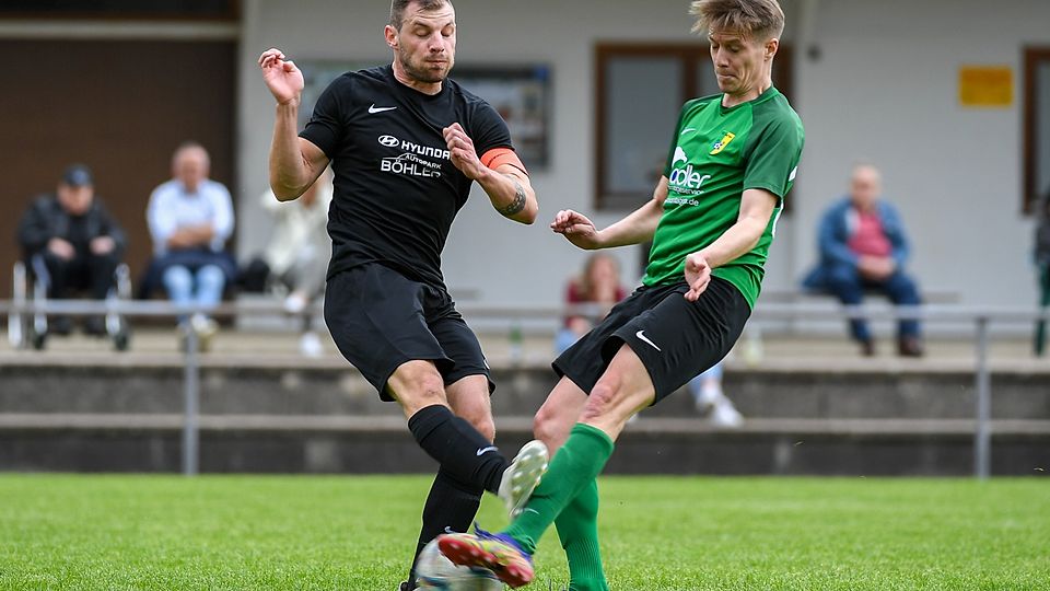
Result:
M1023 60L1025 45L1050 45L1048 24L1043 0L820 2L813 42L822 57L797 70L807 135L801 235L842 193L851 161L867 158L902 210L924 288L972 304L1032 303L1032 227L1020 213ZM962 65L1010 66L1014 105L959 106ZM809 265L813 241L791 255Z

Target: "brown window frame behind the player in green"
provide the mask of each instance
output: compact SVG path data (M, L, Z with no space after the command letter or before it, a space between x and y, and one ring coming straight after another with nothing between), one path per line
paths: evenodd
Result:
M773 80L777 89L789 99L794 90L794 53L789 45L781 45L773 61ZM705 43L598 43L595 45L594 61L594 208L600 211L630 211L645 202L650 194L612 192L606 182L606 66L614 58L672 57L681 62L681 88L684 95L679 103L700 96L697 72L702 62L710 66L711 55ZM785 204L786 205L786 204ZM786 207L785 207L786 211Z

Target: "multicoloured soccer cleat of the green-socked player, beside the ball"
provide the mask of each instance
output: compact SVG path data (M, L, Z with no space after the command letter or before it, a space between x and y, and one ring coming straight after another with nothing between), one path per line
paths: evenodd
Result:
M491 534L477 524L474 534L439 535L438 548L457 565L491 570L512 589L528 584L536 576L533 557L517 542L506 534Z

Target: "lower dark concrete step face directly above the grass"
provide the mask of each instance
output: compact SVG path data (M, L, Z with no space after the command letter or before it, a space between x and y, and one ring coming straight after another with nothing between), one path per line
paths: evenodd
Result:
M178 472L182 417L5 416L0 471ZM527 418L500 420L511 454ZM819 421L818 421L819 422ZM967 476L973 472L969 421L749 421L719 430L688 419L629 426L609 474L784 474ZM1042 476L1050 470L1047 421L995 421L992 473ZM915 429L914 431L906 431ZM434 462L399 418L202 417L206 473L429 473Z

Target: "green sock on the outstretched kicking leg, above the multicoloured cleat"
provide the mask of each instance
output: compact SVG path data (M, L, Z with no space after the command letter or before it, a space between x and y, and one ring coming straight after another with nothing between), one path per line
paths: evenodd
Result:
M550 461L544 479L533 491L522 513L505 532L522 548L536 553L536 544L555 519L587 483L602 473L612 455L612 440L597 427L578 422L565 444Z

